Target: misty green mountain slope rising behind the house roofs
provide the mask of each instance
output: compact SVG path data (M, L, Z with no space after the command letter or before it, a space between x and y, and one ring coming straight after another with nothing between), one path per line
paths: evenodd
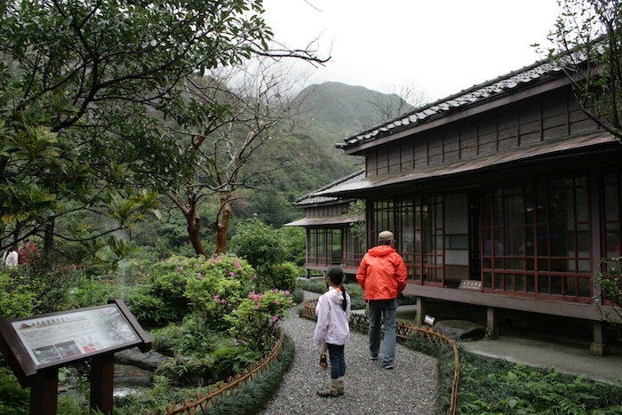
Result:
M285 204L275 213L265 205L254 205L267 223L276 227L302 214L291 203L299 196L321 188L363 168L363 159L346 156L335 144L347 136L386 121L382 115L387 103L399 108L400 98L368 90L362 86L324 83L308 86L303 92L298 121L291 132L281 132L275 158L291 156L294 163L275 172L275 181L264 188ZM261 200L259 194L253 201Z

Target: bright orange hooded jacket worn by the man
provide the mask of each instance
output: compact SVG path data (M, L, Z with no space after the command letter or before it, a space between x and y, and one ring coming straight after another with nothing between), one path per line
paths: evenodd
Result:
M367 251L356 273L365 299L396 299L406 287L407 277L402 256L388 245Z

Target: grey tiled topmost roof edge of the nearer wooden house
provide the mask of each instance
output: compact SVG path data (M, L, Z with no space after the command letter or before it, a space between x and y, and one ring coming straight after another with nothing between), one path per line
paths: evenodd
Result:
M515 88L537 82L543 77L557 73L561 70L550 60L540 60L529 67L525 67L504 76L499 76L492 81L473 87L451 95L448 98L437 100L431 104L416 108L410 113L398 116L386 123L379 124L364 132L359 132L354 136L348 137L343 143L337 143L337 148L348 148L366 141L375 140L378 137L390 135L403 128L410 128L416 124L428 121L431 117L447 113L451 110L462 109L474 103L481 103L490 100L501 94L512 92Z

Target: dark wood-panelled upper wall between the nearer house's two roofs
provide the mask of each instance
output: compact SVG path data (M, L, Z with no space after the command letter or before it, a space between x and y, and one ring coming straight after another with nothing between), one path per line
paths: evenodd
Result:
M371 148L365 155L367 175L473 160L596 129L569 89L554 90Z

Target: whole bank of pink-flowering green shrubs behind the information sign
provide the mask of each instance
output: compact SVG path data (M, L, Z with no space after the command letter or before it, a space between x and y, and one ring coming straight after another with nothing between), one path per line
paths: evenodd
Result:
M128 304L134 315L157 316L156 323L200 316L193 319L202 322L198 331L227 332L253 352L272 346L277 324L293 306L290 291L267 289L249 263L235 255L172 257L154 264L146 275L141 296Z

